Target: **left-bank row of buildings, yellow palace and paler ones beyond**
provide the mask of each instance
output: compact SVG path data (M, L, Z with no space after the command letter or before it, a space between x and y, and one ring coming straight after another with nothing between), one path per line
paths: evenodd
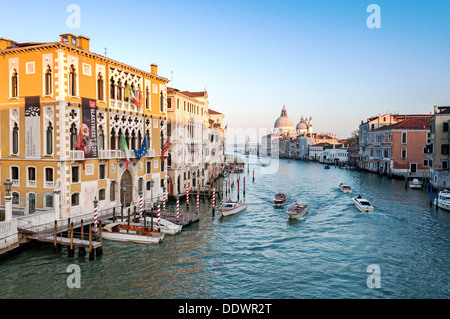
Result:
M71 33L50 43L0 38L0 253L18 229L121 205L209 191L224 166L224 114L206 89L168 86L90 51ZM19 233L20 235L20 233Z

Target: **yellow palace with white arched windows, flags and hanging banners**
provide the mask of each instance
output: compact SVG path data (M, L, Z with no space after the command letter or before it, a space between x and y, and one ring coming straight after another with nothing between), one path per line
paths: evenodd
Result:
M140 191L147 206L161 198L169 81L155 64L140 70L89 42L70 33L50 43L0 38L0 198L5 205L9 178L15 215L54 220L92 211L94 200L101 210L138 206Z

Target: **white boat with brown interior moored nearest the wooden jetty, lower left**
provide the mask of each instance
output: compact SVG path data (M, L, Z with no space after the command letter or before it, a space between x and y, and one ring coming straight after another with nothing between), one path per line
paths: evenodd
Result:
M159 231L150 231L143 226L111 223L102 227L102 238L140 244L157 244L162 242L164 234Z

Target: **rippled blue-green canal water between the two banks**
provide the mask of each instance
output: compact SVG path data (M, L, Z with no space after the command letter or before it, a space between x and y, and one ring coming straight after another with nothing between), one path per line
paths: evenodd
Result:
M0 263L0 298L450 297L450 212L430 207L427 191L318 163L280 160L263 168L254 159L240 175L246 211L218 218L200 200L200 221L181 234L159 245L105 240L94 261L66 249L28 249ZM353 194L340 192L341 182ZM289 220L286 208L272 205L277 192L289 204L307 203L308 214ZM356 210L357 194L373 213ZM73 264L79 289L67 285Z

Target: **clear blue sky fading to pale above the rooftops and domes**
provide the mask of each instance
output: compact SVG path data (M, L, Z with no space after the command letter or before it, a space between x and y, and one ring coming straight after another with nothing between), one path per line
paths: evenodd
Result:
M69 4L81 28L69 28ZM381 28L370 29L370 4ZM384 112L450 105L450 1L16 1L2 4L0 37L57 41L71 32L91 51L205 87L230 128L273 127L283 105L294 126L350 136Z

